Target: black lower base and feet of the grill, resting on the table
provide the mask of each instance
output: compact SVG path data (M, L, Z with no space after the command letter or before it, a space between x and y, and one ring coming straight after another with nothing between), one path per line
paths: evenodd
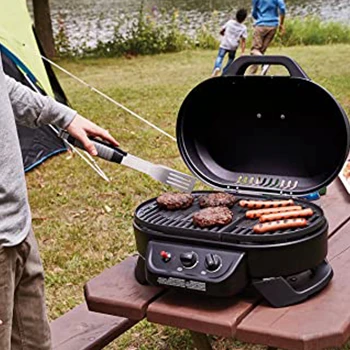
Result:
M237 258L237 257L236 257ZM138 258L135 277L140 284L151 284L175 288L180 292L205 294L215 297L231 297L252 285L258 293L273 307L286 307L300 303L325 288L333 277L333 270L326 260L313 269L291 276L278 276L249 280L244 255L238 255L234 273L225 280L214 283L184 279L181 277L161 276L149 269L149 262Z

